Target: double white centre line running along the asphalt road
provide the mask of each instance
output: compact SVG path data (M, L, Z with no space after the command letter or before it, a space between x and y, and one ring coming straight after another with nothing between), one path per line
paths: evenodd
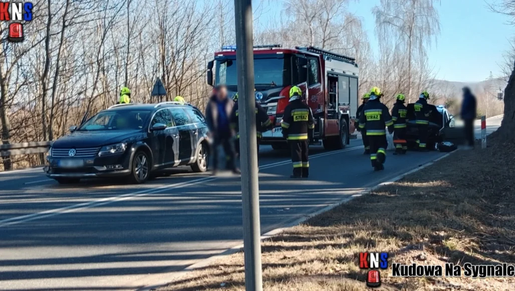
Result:
M349 149L327 152L327 153L320 153L320 154L310 156L310 159L328 156L328 155L334 155L334 154L338 154L341 152L348 152L348 151L356 150L359 148L363 148L363 146L352 147ZM290 162L291 162L290 160L285 160L282 162L271 163L269 165L263 165L259 168L267 169L267 168L271 168L271 167L286 165L287 163L290 163ZM84 203L74 204L74 205L70 205L70 206L66 206L66 207L40 211L40 212L36 212L36 213L32 213L32 214L11 217L10 219L5 219L5 220L0 221L0 228L6 227L9 225L15 225L15 224L20 224L20 223L24 223L24 222L29 222L29 221L33 221L33 220L39 220L39 219L43 219L45 217L55 216L55 215L59 215L59 214L63 214L63 213L70 213L70 212L75 212L75 211L82 210L82 209L88 209L88 208L92 208L92 207L96 207L96 206L100 206L100 205L106 205L106 204L110 204L110 203L114 203L114 202L118 202L118 201L124 201L124 200L131 199L134 197L142 197L142 196L146 196L148 194L155 194L155 193L159 193L159 192L162 192L162 191L165 191L168 189L177 189L177 188L192 186L195 184L199 184L201 182L214 180L217 178L218 177L216 177L216 176L215 177L203 177L203 178L198 178L198 179L195 179L192 181L184 181L181 183L161 186L157 189L151 189L151 190L145 189L145 190L141 190L141 191L137 191L137 192L133 192L133 193L127 193L127 194L122 194L122 195L118 195L118 196L101 198L101 199L97 199L97 200L90 201L90 202L84 202Z

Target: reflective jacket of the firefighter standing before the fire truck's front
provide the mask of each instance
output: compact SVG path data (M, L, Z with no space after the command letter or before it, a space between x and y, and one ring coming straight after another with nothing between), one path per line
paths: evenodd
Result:
M308 133L313 136L313 112L310 106L302 103L300 99L290 101L284 108L281 121L283 136L288 140L307 140Z

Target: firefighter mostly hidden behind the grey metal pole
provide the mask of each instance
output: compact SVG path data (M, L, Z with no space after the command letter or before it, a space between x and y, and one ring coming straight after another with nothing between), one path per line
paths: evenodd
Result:
M238 94L236 93L233 97L234 106L232 107L230 117L231 130L236 132L236 141L234 142L236 153L239 155L239 113L238 113ZM268 117L268 114L261 106L261 104L255 101L255 115L256 115L256 142L258 143L258 163L259 163L259 144L261 142L262 133L272 128L272 121Z

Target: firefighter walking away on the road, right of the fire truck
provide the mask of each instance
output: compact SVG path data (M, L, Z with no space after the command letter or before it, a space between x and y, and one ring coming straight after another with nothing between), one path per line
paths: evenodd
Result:
M381 90L373 87L370 90L370 99L363 107L363 113L359 116L359 128L367 131L367 137L370 144L370 160L374 171L384 170L384 162L386 160L386 148L388 141L386 140L386 126L388 132L393 132L393 121L385 104L379 100L381 98Z

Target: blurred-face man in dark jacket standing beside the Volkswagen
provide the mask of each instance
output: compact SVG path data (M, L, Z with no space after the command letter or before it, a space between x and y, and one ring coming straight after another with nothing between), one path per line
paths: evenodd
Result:
M219 85L216 87L216 94L213 95L208 105L205 107L205 122L208 124L209 131L213 137L213 174L218 170L218 148L224 147L226 154L226 168L234 173L239 173L236 168L236 155L234 143L232 142L233 131L230 129L230 116L234 102L227 97L227 87Z

